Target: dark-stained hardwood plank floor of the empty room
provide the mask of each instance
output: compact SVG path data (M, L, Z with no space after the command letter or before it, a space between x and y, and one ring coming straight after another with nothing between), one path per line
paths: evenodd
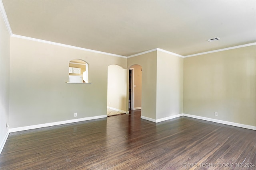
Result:
M256 169L256 131L130 114L10 133L1 170Z

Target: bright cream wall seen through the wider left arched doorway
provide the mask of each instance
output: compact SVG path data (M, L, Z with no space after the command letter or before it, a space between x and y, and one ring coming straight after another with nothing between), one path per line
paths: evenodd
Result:
M126 74L126 68L115 64L108 66L108 107L126 111Z

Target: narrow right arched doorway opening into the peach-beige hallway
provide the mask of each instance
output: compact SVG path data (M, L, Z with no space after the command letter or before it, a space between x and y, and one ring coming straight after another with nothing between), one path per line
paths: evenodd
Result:
M142 106L142 66L134 64L129 67L128 82L129 110L141 109Z

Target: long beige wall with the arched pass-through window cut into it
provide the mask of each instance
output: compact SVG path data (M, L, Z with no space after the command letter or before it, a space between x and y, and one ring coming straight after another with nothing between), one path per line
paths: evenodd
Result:
M11 128L107 114L108 65L126 68L127 59L16 37L10 41ZM92 84L66 83L73 59L88 63Z

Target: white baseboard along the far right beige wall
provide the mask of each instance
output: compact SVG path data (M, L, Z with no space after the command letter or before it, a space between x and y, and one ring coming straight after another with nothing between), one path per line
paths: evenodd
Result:
M222 123L222 124L225 124L225 125L231 125L231 126L236 126L236 127L242 127L242 128L246 128L246 129L256 130L256 126L244 125L244 124L240 124L240 123L234 123L234 122L230 122L230 121L212 119L212 118L196 116L196 115L189 115L189 114L185 114L185 113L183 113L183 115L186 116L186 117L192 117L192 118L196 118L196 119L212 121L212 122L215 122L215 123Z

